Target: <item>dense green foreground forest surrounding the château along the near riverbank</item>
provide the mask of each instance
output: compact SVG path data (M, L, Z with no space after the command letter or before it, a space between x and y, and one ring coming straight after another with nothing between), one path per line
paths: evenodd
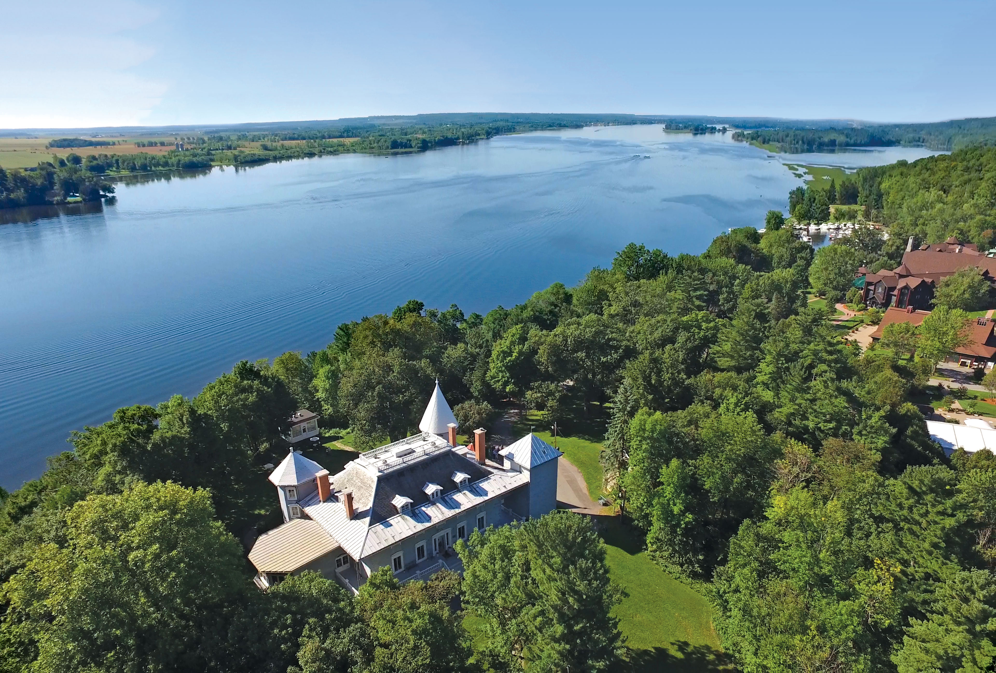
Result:
M880 236L814 262L781 225L700 256L630 244L486 315L412 300L75 433L4 498L0 670L618 670L621 592L569 513L460 546L462 580L254 588L236 540L281 521L263 466L290 412L367 448L416 428L435 377L464 430L525 407L604 436L607 493L745 673L991 670L996 458L945 457L911 402L942 347L863 353L808 305Z

